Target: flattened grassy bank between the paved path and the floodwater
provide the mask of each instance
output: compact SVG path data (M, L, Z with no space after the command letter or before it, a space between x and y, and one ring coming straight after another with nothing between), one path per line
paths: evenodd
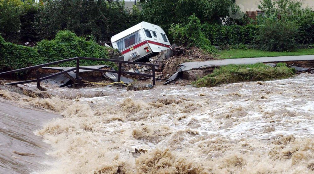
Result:
M279 63L276 68L263 63L253 65L227 65L215 68L209 74L193 82L196 87L214 87L223 83L236 83L241 81L267 81L282 79L295 75L295 70L286 64Z

